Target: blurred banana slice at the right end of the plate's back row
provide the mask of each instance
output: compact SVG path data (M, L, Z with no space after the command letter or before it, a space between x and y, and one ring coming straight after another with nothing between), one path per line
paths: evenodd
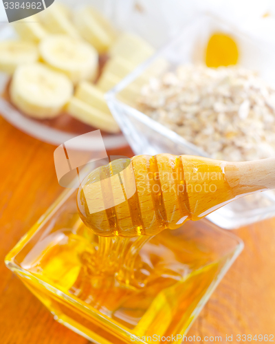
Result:
M74 23L83 39L93 45L100 54L107 52L115 41L114 28L94 8L85 7L76 12Z

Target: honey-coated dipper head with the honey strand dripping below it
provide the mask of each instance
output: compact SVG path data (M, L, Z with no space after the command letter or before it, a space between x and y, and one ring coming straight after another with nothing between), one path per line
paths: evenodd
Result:
M139 283L133 278L135 260L150 237L265 189L243 181L238 166L159 154L115 160L92 171L78 190L77 205L84 224L99 236L94 264L125 285Z

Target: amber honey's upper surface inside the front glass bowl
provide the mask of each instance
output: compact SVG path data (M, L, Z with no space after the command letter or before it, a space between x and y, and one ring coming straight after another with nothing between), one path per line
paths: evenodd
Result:
M78 225L75 233L61 229L45 238L21 266L137 336L182 332L192 305L219 272L212 253L202 254L188 231L98 237ZM55 301L29 288L57 312Z

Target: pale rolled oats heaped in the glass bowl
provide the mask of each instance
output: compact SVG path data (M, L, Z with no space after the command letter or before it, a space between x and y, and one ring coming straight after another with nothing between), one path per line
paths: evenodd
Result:
M142 111L211 158L275 155L275 90L243 67L181 65L142 88Z

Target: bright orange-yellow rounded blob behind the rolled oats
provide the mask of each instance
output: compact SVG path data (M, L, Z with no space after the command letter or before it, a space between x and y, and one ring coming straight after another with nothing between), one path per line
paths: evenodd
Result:
M210 36L206 47L206 65L208 67L236 65L238 58L238 47L231 36L221 32Z

